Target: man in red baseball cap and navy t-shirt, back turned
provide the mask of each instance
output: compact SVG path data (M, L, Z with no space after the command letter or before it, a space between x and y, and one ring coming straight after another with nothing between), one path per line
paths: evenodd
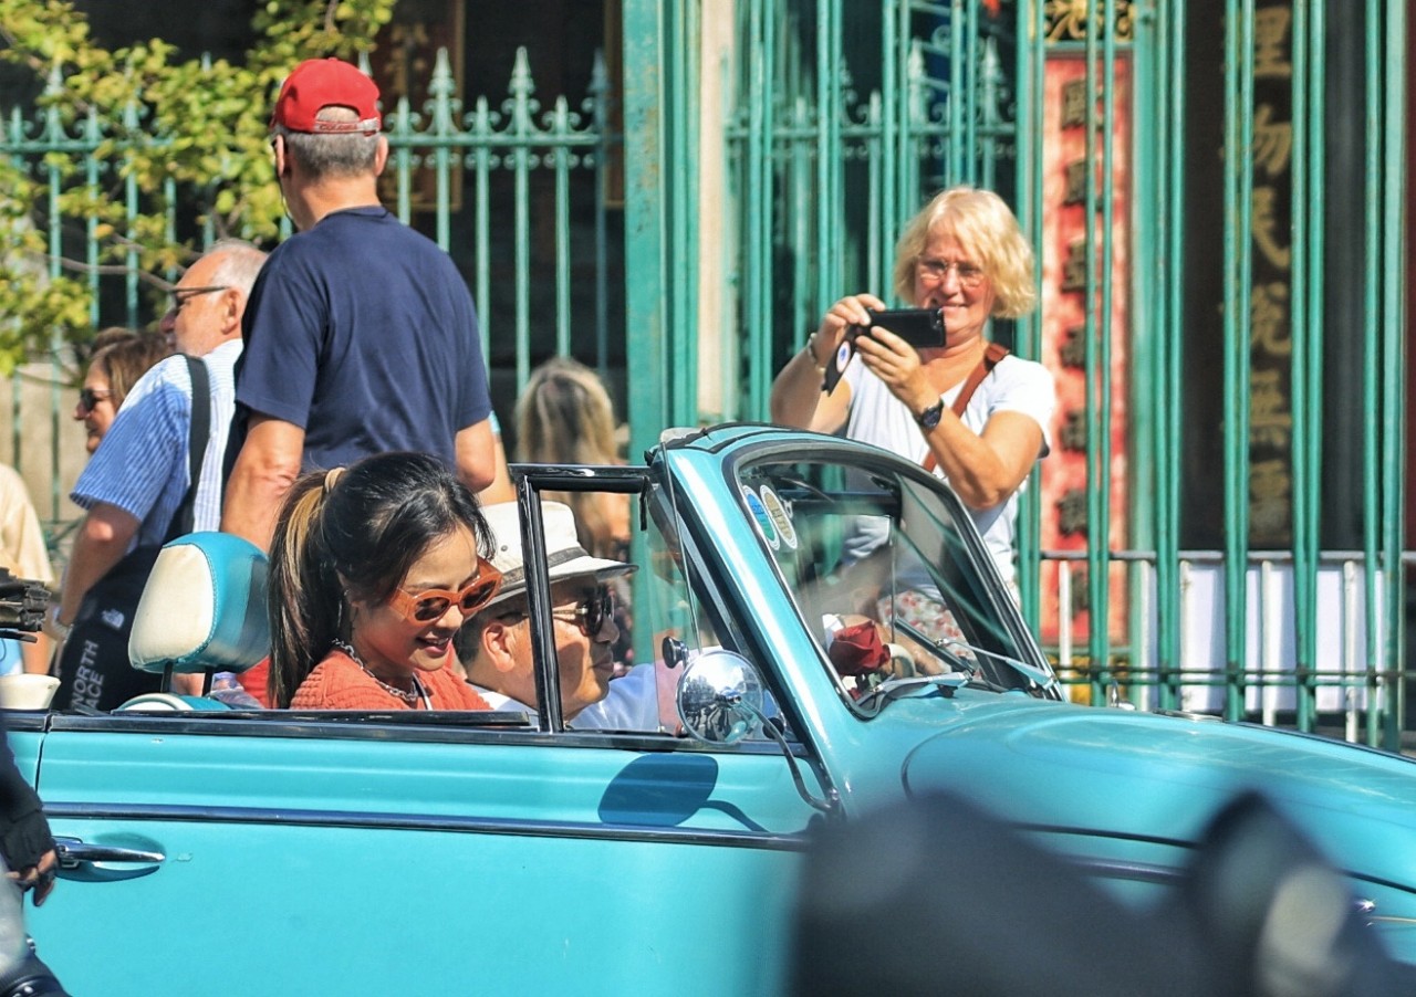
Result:
M473 491L493 478L491 402L472 294L447 253L378 197L378 86L309 59L280 86L270 147L299 232L251 293L221 529L268 547L312 468L415 450Z

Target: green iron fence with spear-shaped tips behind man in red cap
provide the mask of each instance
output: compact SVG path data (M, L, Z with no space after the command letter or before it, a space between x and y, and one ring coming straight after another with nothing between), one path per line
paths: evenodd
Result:
M61 86L58 76L48 81L51 92ZM440 52L428 81L428 102L411 107L404 98L387 115L391 156L384 197L399 218L449 250L466 274L489 368L503 375L500 407L507 413L508 399L525 383L532 363L548 355L573 354L606 373L623 365L623 236L610 202L609 168L620 137L610 127L609 89L598 57L588 96L576 109L565 96L542 106L525 49L520 49L507 96L500 102L477 96L464 106ZM137 180L123 170L122 154L125 141L160 146L170 140L144 136L147 122L140 106L127 107L118 123L93 115L69 123L44 107L25 117L11 109L0 133L0 156L23 164L47 191L35 212L48 243L40 266L51 277L82 274L92 294L95 330L150 324L167 305L167 281L177 279L176 272L159 279L143 274L136 249L119 263L101 262L93 219L65 216L58 208L61 195L75 188L93 197L116 195L129 219L147 208ZM120 146L116 158L95 157L115 141ZM169 238L180 236L193 247L218 238L210 221L210 191L167 181L160 199ZM289 222L283 229L287 235ZM72 352L55 339L50 356L24 366L10 390L10 460L24 462L41 516L57 537L75 513L65 495L82 461L82 434L67 419L68 386L81 376L75 368ZM47 426L37 433L41 417ZM35 448L45 451L44 461Z

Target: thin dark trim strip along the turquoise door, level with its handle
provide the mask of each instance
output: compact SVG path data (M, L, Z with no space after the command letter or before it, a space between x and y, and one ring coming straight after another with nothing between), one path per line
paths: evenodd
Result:
M453 834L503 834L518 837L565 837L803 851L804 834L753 834L702 827L647 827L643 824L592 824L561 820L510 820L497 817L452 817L408 813L344 813L338 810L292 810L249 806L170 806L153 803L65 803L45 800L44 813L74 820L169 820L181 823L272 824L297 827L340 827L375 830L419 830Z

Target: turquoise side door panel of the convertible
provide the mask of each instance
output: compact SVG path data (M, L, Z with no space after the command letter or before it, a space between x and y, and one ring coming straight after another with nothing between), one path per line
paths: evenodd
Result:
M786 923L811 810L775 752L227 727L45 738L40 789L55 834L166 857L67 877L35 912L31 929L75 993L229 993L234 967L211 977L205 960L163 957L214 939L212 962L239 953L245 979L276 993L416 993L447 980L583 993L596 980L606 993L707 994L780 983L770 959L712 957ZM677 932L685 906L692 931ZM113 922L113 909L160 912L174 931L154 931L154 916ZM62 928L75 923L106 926ZM310 957L312 943L337 945L340 957ZM143 948L160 986L115 980L110 967Z

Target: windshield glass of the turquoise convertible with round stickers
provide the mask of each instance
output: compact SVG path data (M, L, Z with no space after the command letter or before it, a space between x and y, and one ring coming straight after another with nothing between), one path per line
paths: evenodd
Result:
M739 486L823 660L864 713L885 683L1035 690L1048 680L1008 622L1012 597L973 525L935 484L817 460L752 464Z

